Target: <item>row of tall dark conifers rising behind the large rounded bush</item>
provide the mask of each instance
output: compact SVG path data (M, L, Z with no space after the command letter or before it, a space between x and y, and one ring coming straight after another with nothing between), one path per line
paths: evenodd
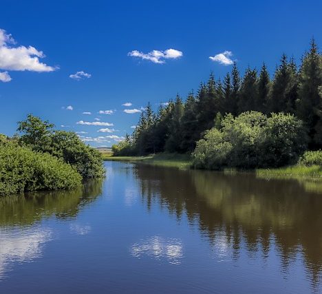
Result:
M191 153L198 140L213 127L221 127L226 114L236 117L249 111L271 116L291 114L303 121L308 147L322 147L322 55L314 40L297 66L286 54L273 78L263 64L259 72L248 67L241 76L236 63L224 79L201 83L197 93L186 101L177 95L175 101L160 105L153 112L149 103L140 116L132 136L114 145L115 155L143 155L162 151Z

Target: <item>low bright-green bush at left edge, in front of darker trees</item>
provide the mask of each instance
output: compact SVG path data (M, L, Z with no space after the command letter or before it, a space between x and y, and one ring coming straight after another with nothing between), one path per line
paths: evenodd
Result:
M50 154L2 140L0 195L23 191L72 189L81 185L78 172Z

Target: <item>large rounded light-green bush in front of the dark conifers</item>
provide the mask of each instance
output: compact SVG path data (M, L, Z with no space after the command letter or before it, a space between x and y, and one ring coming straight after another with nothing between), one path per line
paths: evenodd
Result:
M206 169L280 167L296 162L306 142L301 120L290 114L228 114L220 129L209 130L197 142L193 164Z

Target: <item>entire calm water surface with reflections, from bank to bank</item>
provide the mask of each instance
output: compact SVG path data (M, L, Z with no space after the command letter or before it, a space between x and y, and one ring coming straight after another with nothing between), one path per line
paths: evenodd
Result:
M321 293L321 182L106 166L0 199L0 293Z

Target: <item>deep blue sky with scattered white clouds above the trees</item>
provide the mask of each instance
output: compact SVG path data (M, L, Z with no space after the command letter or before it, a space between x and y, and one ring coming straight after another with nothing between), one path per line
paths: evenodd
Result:
M0 134L27 114L78 132L94 147L131 134L148 102L186 98L213 72L281 54L299 63L322 1L1 0Z

